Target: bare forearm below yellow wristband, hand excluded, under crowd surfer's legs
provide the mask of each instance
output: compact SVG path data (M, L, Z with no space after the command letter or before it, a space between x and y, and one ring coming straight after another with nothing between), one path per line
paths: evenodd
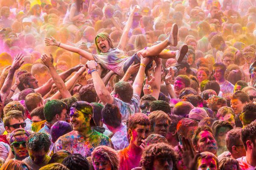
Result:
M134 93L140 96L141 89L143 88L143 81L145 78L145 66L140 65L137 76L135 77L134 84L132 85Z

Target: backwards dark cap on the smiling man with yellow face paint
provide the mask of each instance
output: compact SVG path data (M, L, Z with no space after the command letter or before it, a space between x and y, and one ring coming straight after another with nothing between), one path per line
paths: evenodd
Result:
M84 101L74 102L73 105L70 107L70 111L71 109L76 109L78 111L83 112L84 114L92 115L92 118L90 119L90 125L96 126L93 120L93 106L90 105L90 103Z

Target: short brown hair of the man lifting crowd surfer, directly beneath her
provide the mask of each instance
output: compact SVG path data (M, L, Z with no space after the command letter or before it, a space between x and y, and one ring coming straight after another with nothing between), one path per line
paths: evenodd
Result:
M128 82L117 82L114 86L114 91L119 98L124 102L131 102L133 88Z

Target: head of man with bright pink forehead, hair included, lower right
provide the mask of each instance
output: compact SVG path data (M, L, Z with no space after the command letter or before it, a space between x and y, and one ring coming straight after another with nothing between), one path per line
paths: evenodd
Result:
M198 127L193 135L192 143L196 152L202 153L208 151L217 156L218 144L210 127Z

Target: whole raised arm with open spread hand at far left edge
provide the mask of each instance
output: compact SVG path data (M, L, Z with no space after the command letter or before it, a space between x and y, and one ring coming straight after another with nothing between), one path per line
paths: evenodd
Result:
M3 103L4 103L5 99L6 99L6 97L9 95L10 90L12 88L12 79L13 79L13 76L15 74L15 71L17 69L19 69L20 66L22 65L22 63L24 62L24 60L21 61L21 59L23 57L24 57L23 54L21 54L21 53L17 54L17 56L14 58L14 60L12 62L12 66L11 66L11 68L9 70L9 73L8 73L8 75L6 77L6 80L5 80L4 84L3 84L3 87L1 88L1 91L0 91L0 94L3 97L3 101L2 101Z

